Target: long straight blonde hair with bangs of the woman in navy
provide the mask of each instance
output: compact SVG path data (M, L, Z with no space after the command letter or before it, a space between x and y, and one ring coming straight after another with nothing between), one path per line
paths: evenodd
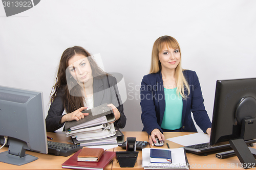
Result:
M171 36L162 36L159 37L153 45L152 50L152 58L151 58L151 68L150 68L150 74L157 73L161 70L161 63L159 61L159 53L162 52L162 49L164 46L168 46L169 48L178 49L180 54L180 45L178 41L171 37ZM189 85L187 83L187 80L185 79L183 75L183 70L181 67L181 61L175 68L175 76L176 76L176 84L177 84L177 94L180 94L183 99L186 99L187 96L184 93L184 88L187 89L187 95L190 93Z

